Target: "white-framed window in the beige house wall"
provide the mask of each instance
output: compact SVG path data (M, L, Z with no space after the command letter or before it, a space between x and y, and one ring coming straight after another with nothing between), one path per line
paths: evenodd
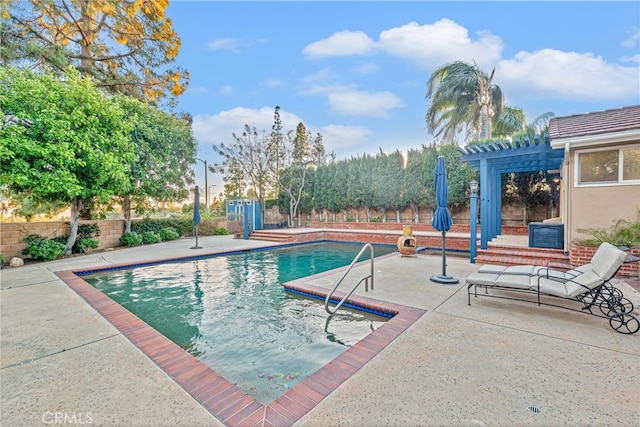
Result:
M640 183L640 146L583 150L577 155L577 184Z

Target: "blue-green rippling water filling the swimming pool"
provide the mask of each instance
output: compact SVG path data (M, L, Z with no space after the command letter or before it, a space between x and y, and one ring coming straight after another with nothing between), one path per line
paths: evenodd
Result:
M349 265L361 248L302 244L83 278L268 404L387 320L349 309L329 316L323 301L281 286ZM395 250L374 245L375 256Z

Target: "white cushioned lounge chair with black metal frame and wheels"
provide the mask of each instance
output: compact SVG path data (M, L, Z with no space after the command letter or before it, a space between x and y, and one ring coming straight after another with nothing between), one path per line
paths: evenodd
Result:
M569 271L539 266L492 266L481 267L477 273L466 278L468 303L471 305L471 288L478 296L477 289L484 288L480 294L494 298L515 299L534 302L530 298L513 296L533 294L538 305L553 305L609 319L609 325L623 334L634 334L640 329L640 322L631 314L633 303L609 282L618 272L627 258L627 253L609 243L602 243L591 261ZM489 289L513 291L509 295L489 294ZM542 302L541 297L555 297L576 301L582 305L580 310L566 306ZM602 314L592 309L598 307Z

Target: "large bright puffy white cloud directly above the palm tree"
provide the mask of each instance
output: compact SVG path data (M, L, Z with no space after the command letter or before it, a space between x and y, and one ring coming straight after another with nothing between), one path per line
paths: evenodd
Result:
M380 33L378 47L386 53L433 68L452 61L475 61L480 68L492 67L502 54L502 39L489 31L469 31L450 19L419 25L410 22Z

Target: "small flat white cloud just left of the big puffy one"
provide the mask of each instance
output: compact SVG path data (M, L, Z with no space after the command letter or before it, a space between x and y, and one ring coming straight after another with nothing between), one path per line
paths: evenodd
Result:
M302 53L309 58L366 55L374 47L375 42L362 31L345 30L307 45Z

